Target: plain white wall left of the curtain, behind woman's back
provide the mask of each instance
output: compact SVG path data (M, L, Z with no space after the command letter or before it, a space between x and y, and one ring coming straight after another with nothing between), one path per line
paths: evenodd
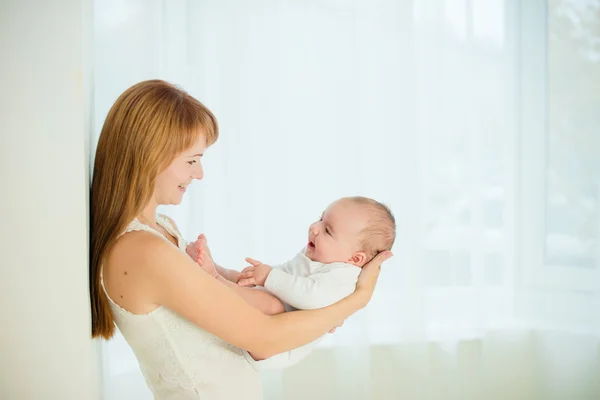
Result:
M88 297L91 20L91 0L0 3L3 399L99 398Z

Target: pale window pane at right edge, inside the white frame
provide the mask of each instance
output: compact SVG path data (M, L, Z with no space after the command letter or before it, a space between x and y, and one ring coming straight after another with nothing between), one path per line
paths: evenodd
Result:
M546 264L598 266L600 1L550 0Z

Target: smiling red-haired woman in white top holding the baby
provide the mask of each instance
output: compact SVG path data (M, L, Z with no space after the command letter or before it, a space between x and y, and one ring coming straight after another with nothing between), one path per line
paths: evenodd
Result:
M91 194L92 336L115 323L156 399L261 399L259 358L311 342L366 306L387 252L356 291L326 308L268 316L199 268L173 221L156 214L179 204L202 179L201 157L218 137L212 113L163 81L126 90L100 134ZM222 270L221 272L226 271Z

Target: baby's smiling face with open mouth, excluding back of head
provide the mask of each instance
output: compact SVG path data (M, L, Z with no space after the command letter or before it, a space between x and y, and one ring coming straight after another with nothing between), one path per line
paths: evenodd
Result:
M366 211L349 200L332 203L308 230L306 256L325 264L347 262L362 266L360 232L366 227ZM358 255L358 256L357 256Z

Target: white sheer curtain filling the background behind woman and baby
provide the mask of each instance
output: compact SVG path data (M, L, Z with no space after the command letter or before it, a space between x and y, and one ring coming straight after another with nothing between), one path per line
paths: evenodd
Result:
M332 200L398 223L369 307L267 399L600 398L600 1L97 1L96 125L175 82L217 116L164 211L228 267ZM122 338L107 399L151 398ZM145 396L145 397L144 397Z

